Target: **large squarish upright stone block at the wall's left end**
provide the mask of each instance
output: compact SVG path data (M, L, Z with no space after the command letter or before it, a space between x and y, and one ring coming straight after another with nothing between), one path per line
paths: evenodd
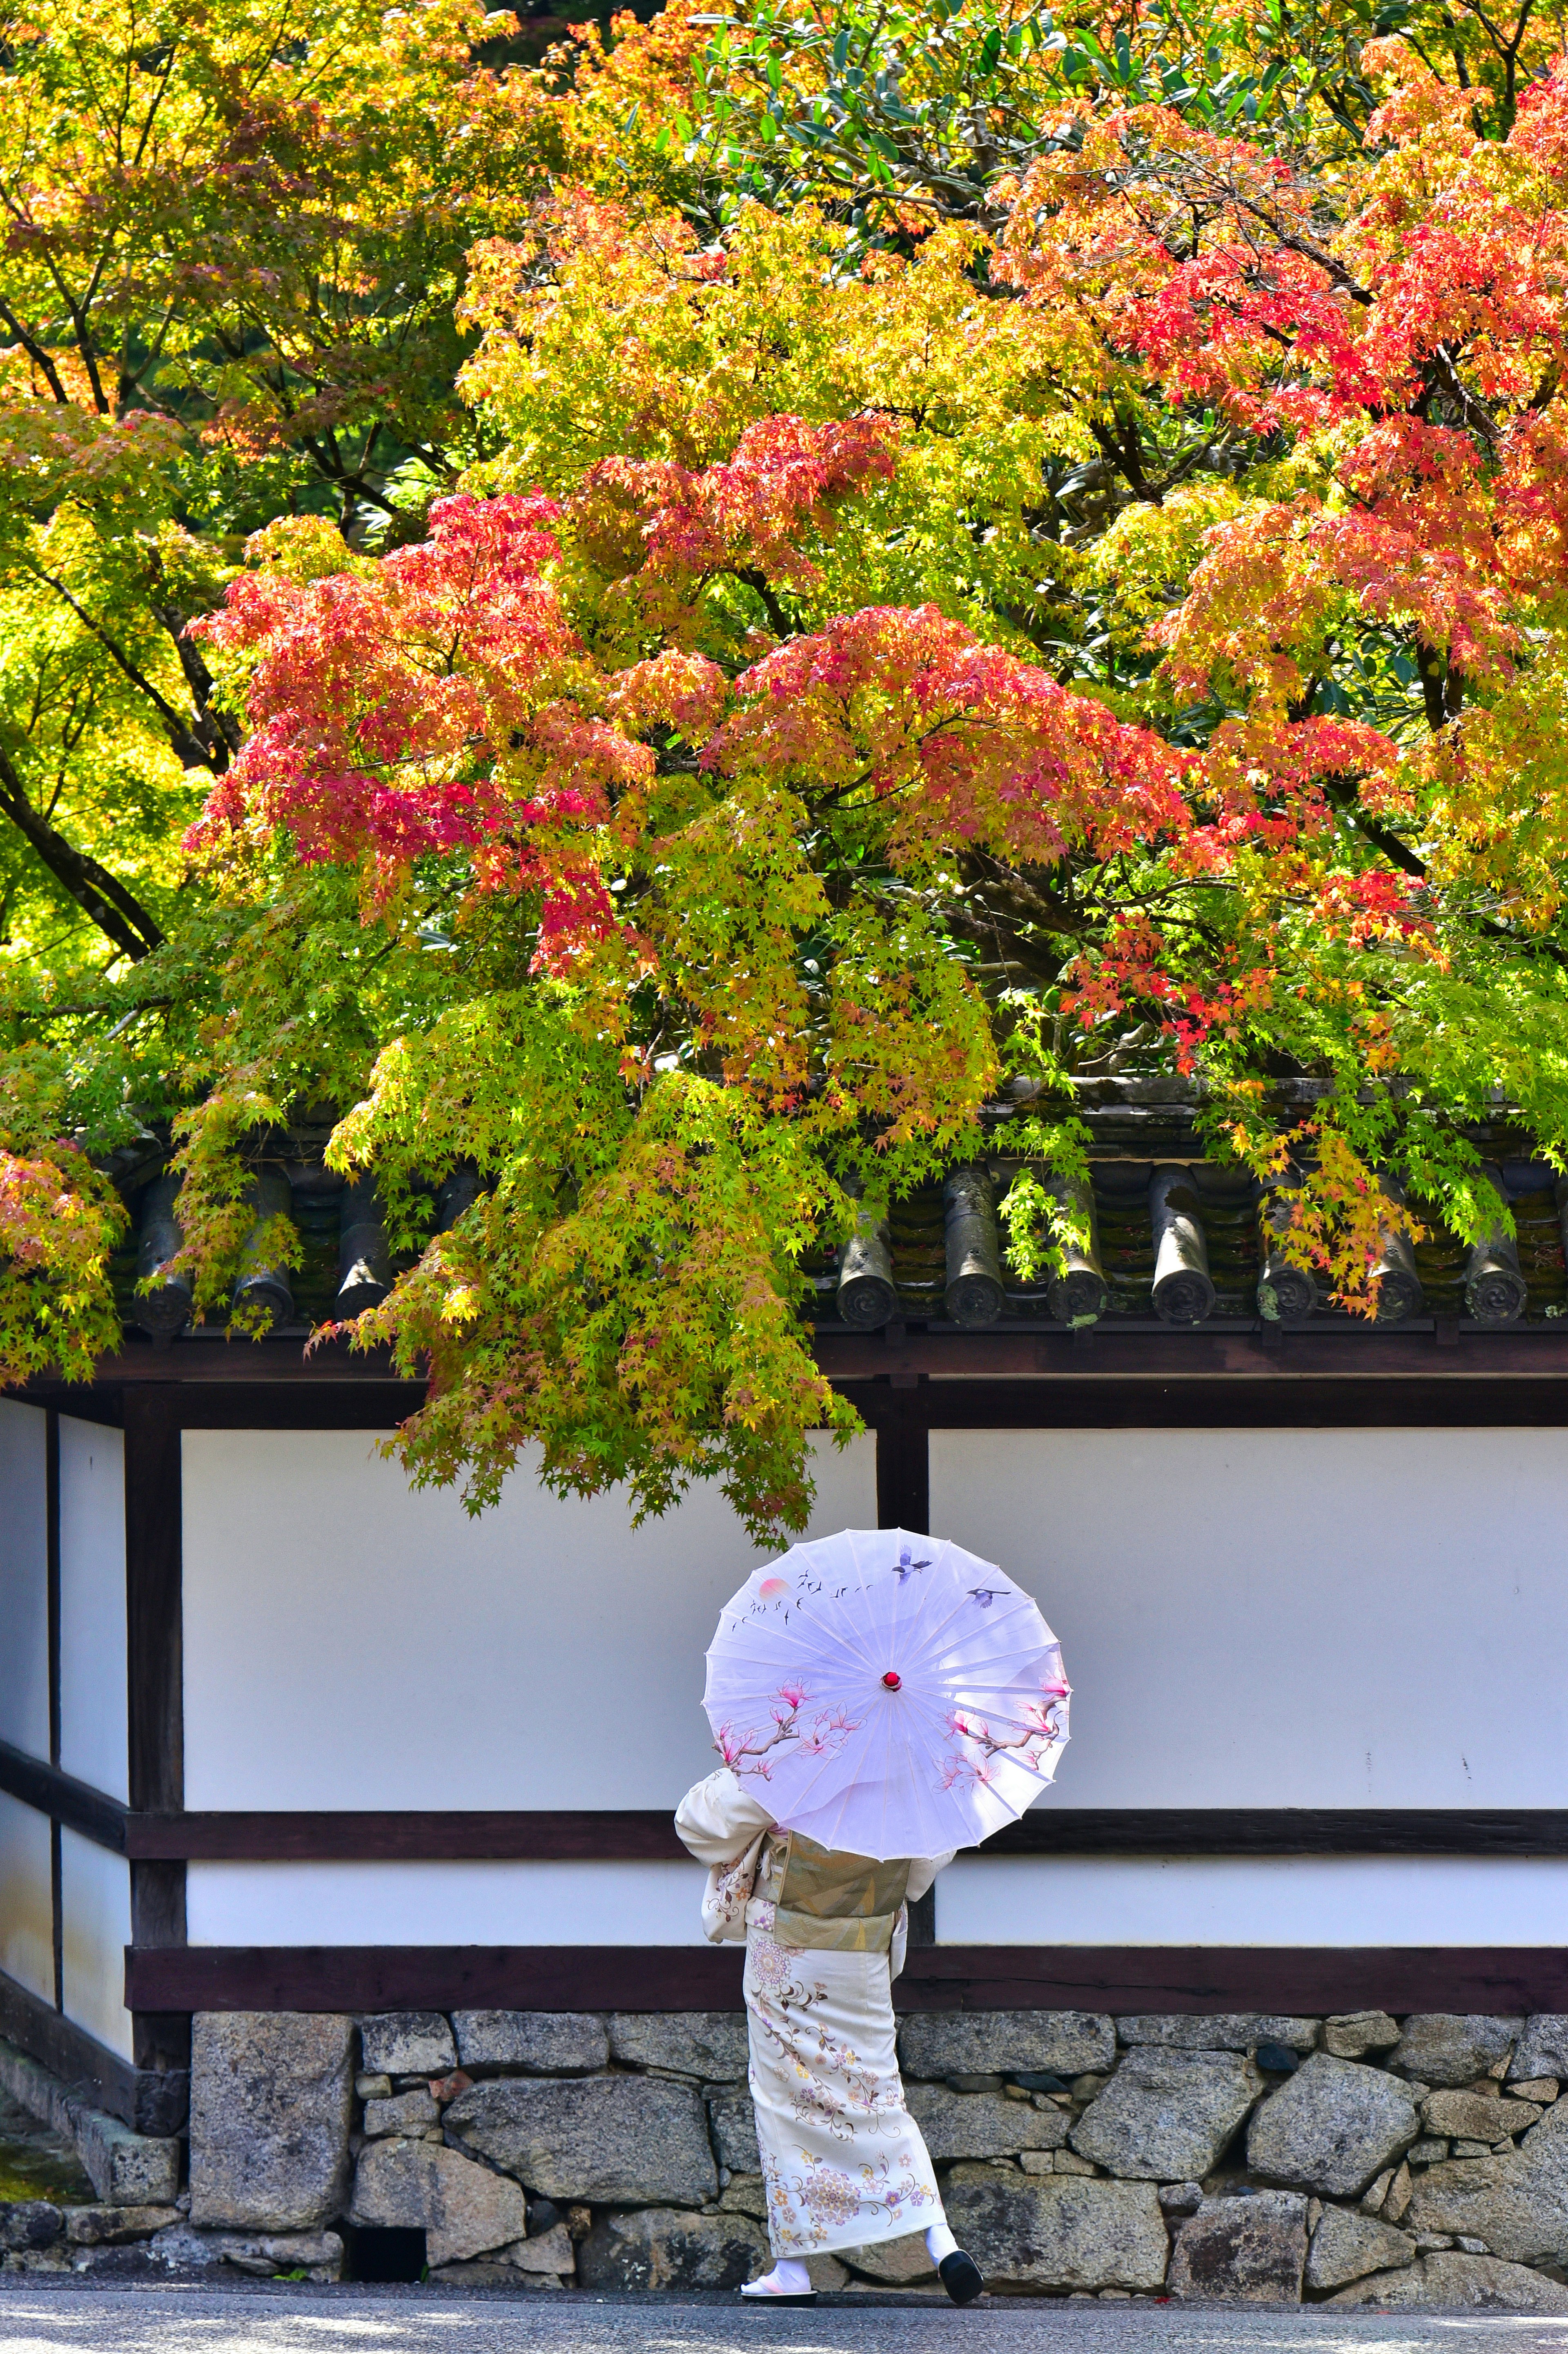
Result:
M353 2020L325 2010L198 2010L191 2222L306 2232L339 2215L351 2097Z

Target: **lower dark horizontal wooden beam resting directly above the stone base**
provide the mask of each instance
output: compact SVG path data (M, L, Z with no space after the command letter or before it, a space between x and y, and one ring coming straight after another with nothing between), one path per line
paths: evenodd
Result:
M125 1954L134 2010L739 2010L737 1947L193 1944ZM1563 2010L1556 1947L911 1947L899 2010Z

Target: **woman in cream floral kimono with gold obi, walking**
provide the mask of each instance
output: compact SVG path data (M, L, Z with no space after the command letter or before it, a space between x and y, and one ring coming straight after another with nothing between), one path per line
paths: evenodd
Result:
M984 2281L946 2227L921 2128L904 2107L892 1980L906 1900L951 1855L871 1862L779 1831L727 1766L690 1789L676 1831L709 1864L702 1926L746 1940L751 2102L775 2267L744 2298L812 2295L808 2255L904 2239L925 2246L954 2305Z

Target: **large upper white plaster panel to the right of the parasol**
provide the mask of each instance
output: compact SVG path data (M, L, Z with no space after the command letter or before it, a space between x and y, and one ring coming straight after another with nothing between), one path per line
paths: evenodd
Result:
M1568 1806L1568 1431L932 1431L930 1525L1062 1638L1043 1806Z

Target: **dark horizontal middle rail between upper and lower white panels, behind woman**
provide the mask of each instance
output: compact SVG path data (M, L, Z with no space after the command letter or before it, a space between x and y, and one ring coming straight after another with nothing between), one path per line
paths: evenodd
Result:
M7 1787L2 1777L0 1787ZM28 1803L42 1801L28 1798ZM101 1803L113 1806L113 1801ZM685 1848L666 1808L122 1815L120 1838L125 1855L146 1862L685 1862ZM1041 1806L986 1838L982 1853L1568 1855L1568 1810Z

